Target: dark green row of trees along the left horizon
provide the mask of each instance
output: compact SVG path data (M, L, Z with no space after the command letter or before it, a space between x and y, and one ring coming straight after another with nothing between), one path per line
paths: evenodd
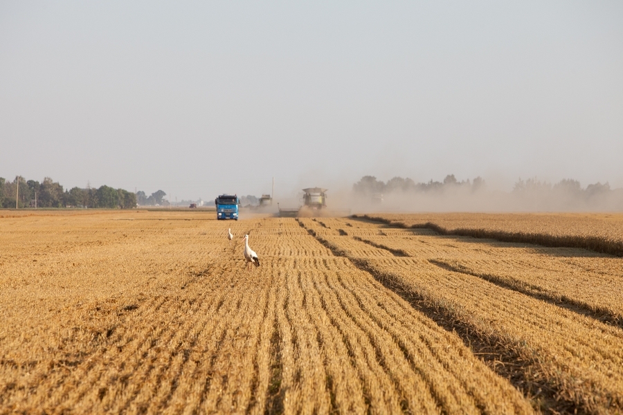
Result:
M46 177L39 183L16 177L6 181L0 177L2 208L136 208L136 194L102 185L97 189L73 187L63 190L60 183Z

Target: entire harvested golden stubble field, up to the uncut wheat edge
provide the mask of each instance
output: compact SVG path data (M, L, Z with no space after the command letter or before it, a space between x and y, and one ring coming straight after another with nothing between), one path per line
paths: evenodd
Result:
M619 257L387 218L0 216L1 413L623 412Z

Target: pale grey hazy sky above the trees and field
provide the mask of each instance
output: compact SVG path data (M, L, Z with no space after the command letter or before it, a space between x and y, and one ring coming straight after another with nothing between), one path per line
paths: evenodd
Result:
M623 187L623 2L1 1L0 176Z

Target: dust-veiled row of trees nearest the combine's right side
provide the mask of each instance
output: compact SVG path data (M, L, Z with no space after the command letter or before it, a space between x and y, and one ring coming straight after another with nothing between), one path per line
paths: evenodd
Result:
M395 177L391 178L384 183L377 180L374 176L363 176L361 180L352 186L352 190L357 194L371 195L371 194L390 194L392 192L443 192L448 189L464 189L472 192L485 187L485 181L476 177L473 181L458 181L454 174L449 174L444 178L443 182L429 181L428 183L415 183L410 178Z

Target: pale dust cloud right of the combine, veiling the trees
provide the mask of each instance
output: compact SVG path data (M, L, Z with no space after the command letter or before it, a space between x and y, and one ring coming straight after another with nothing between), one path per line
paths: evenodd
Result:
M329 188L330 183L326 187ZM611 189L608 183L581 187L578 181L571 179L553 185L536 179L519 179L512 190L504 191L490 188L480 177L458 181L449 175L442 182L431 180L428 183L397 177L385 183L374 176L364 176L350 188L344 185L333 188L327 192L327 209L349 210L352 214L623 211L623 189ZM289 203L294 207L297 201Z

